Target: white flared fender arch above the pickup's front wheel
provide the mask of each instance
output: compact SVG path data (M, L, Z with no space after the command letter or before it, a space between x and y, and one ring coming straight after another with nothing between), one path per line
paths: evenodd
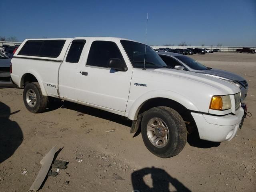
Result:
M130 120L136 120L138 116L138 112L140 111L140 108L143 106L143 104L152 99L152 98L166 98L166 99L171 99L179 104L183 105L186 107L188 110L193 110L193 111L199 111L198 108L185 96L182 96L176 92L172 92L169 90L153 90L146 92L139 98L137 98L132 106L130 107L130 110L128 111L128 119Z

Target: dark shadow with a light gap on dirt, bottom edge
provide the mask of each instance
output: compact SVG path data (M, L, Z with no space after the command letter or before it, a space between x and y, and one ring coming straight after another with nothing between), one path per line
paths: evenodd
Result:
M143 177L151 175L153 186L148 186ZM160 168L143 168L132 173L132 187L134 192L170 192L170 184L176 189L174 192L191 192L176 178L170 176Z

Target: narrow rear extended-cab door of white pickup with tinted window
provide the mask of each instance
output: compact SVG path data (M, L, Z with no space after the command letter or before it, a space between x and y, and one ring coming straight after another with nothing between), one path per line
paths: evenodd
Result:
M86 40L75 39L69 46L68 52L60 66L59 76L59 95L61 98L77 100L76 97L76 77L79 62L82 60L81 53L85 47Z

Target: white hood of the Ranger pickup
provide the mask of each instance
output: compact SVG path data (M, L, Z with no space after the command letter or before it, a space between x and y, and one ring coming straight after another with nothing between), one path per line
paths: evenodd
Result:
M180 71L175 69L147 69L148 72L163 74L167 76L175 76L177 78L186 79L189 81L195 81L195 86L198 86L198 84L204 84L206 86L211 86L212 88L215 88L218 91L221 91L223 95L225 94L236 94L240 92L240 89L230 84L229 82L220 80L218 78L214 78L211 76L206 76L203 74L193 73L189 71ZM164 79L163 79L164 80ZM197 84L196 84L197 83ZM184 81L184 84L186 82Z

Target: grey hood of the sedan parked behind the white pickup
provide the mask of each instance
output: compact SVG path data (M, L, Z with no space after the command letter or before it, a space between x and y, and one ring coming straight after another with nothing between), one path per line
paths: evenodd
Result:
M237 74L234 74L232 72L225 71L225 70L220 70L220 69L193 70L193 72L219 76L219 77L222 77L222 78L235 80L235 81L244 81L245 80L243 77L241 77Z

